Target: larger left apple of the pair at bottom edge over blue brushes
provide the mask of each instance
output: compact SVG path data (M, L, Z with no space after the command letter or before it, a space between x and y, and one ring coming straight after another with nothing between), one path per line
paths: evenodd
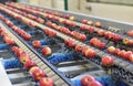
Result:
M92 75L86 75L81 78L81 85L89 86L89 84L91 84L94 80L95 80L95 78Z

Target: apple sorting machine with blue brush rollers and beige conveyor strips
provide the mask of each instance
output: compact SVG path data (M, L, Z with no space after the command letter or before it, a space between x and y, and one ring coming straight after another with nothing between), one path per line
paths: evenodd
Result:
M123 39L130 39L133 40L131 36L127 36L125 34L126 31L132 30L133 24L103 19L99 17L93 15L86 15L86 14L80 14L69 11L60 11L55 9L50 8L43 8L39 6L33 4L27 4L27 3L19 3L22 4L20 7L29 6L34 8L40 8L44 11L53 11L59 12L62 15L70 14L75 18L75 26L71 28L62 22L53 21L48 18L45 18L43 14L45 12L40 12L38 14L33 12L29 12L27 9L17 8L18 4L0 4L0 14L13 22L13 24L20 29L23 29L28 34L30 34L32 37L31 40L25 40L22 36L20 36L17 32L14 32L9 25L7 25L2 20L0 21L1 29L6 30L7 33L14 40L16 45L21 47L24 52L27 52L32 61L35 62L35 64L47 73L47 76L51 77L54 80L55 86L81 86L80 79L85 75L93 75L95 76L96 80L103 84L103 86L132 86L133 85L133 64L130 61L120 58L115 55L112 55L106 52L106 47L114 45L119 49L130 50L133 51L133 46L129 46L126 44L122 43ZM38 18L42 18L44 22L51 21L58 25L63 25L65 28L69 28L71 31L78 31L86 35L86 41L81 41L75 37L72 37L68 34L64 34L51 26L49 26L47 23L39 23L27 15L22 15L22 13L17 12L12 9L17 9L19 11L22 11L28 14L33 14ZM34 10L34 9L31 9ZM25 21L33 22L35 26L29 25L24 20L18 20L16 17L11 15L20 15ZM61 17L61 19L64 19ZM114 43L111 40L106 40L104 37L98 36L95 33L91 34L84 31L80 30L80 25L82 24L80 21L82 19L92 20L93 22L101 22L102 26L101 29L105 31L111 31L114 33L117 33L122 36L121 41L117 41ZM49 29L57 32L55 37L48 36L43 30ZM95 31L98 31L99 28L95 28ZM96 36L101 39L104 43L106 43L106 47L104 50L96 49L89 44L89 40L93 36ZM23 65L18 61L17 56L11 51L11 45L7 45L4 41L0 41L0 56L3 58L1 60L7 75L9 79L11 80L12 85L20 85L23 83L28 83L25 86L39 86L37 82L32 79L32 76L23 68ZM66 39L71 39L74 41L75 44L83 44L86 46L90 46L92 50L96 52L96 57L94 58L88 58L84 55L82 55L80 52L76 52L73 47L69 47L64 44L64 41ZM40 49L34 49L32 46L32 42L34 40L39 40L42 44ZM52 49L52 55L50 56L43 56L41 53L41 49L43 46L50 46ZM104 55L111 55L114 58L114 66L108 68L104 68L101 65L101 58ZM21 75L19 75L21 73ZM18 74L16 78L10 77L11 74Z

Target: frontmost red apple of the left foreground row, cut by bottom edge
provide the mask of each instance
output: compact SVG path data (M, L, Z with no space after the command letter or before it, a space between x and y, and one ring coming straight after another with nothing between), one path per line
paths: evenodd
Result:
M41 77L39 84L40 86L54 86L53 79L50 77Z

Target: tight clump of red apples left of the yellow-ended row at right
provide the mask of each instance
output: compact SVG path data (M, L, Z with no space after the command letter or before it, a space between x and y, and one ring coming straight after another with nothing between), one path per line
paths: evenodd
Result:
M90 40L90 44L93 45L94 47L98 47L101 50L106 47L106 44L104 42L102 42L101 40L99 40L98 37L92 37Z

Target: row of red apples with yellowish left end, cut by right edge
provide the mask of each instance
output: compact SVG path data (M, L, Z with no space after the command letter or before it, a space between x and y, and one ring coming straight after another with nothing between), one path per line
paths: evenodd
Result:
M130 62L133 62L133 52L132 51L125 51L125 50L115 49L114 46L109 46L108 52L113 55L116 55L119 57L122 57L124 60L127 60Z

